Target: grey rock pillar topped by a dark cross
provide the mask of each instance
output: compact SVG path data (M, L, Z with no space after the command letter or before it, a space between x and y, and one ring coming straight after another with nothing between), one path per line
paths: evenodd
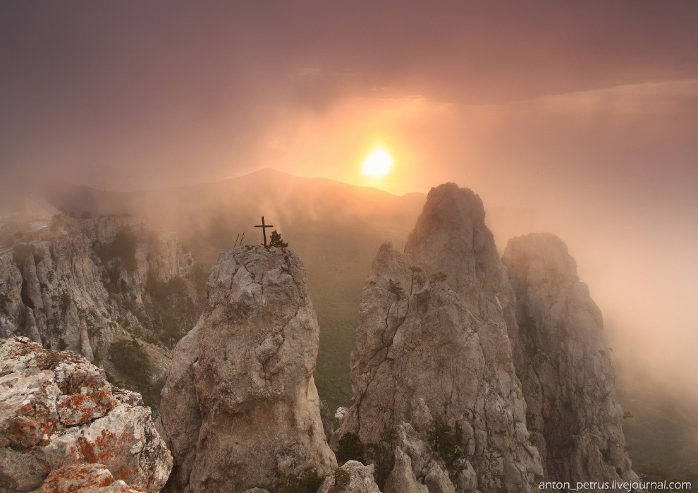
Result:
M312 378L319 328L305 267L286 248L240 246L209 275L207 306L173 353L161 421L170 492L276 491L336 468Z

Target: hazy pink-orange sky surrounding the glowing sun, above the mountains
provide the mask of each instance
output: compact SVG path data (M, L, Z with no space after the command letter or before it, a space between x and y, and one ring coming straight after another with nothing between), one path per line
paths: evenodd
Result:
M534 211L616 351L695 383L696 26L694 0L5 0L0 176L455 181Z

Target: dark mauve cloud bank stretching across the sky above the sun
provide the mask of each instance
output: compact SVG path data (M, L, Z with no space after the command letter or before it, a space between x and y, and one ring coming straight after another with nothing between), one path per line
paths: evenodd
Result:
M502 104L698 78L692 1L0 9L0 166L116 187L244 172L288 111L351 98Z

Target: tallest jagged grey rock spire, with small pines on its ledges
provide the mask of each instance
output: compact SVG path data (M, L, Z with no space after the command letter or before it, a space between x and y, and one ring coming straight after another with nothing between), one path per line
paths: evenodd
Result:
M384 430L409 427L415 454L436 452L434 460L408 461L409 447L395 444L388 487L537 491L541 458L529 441L507 331L513 303L479 197L453 183L431 189L405 253L385 243L374 260L351 357L353 404L333 443L355 432L376 444ZM460 435L455 464L430 450L436 416ZM458 480L463 470L473 473Z

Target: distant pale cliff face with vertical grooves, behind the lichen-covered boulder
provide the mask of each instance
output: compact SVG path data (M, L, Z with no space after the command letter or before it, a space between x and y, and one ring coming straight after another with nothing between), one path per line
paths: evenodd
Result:
M70 349L140 391L164 378L166 346L183 332L166 293L179 297L174 311L198 311L176 235L133 218L63 218L25 240L0 251L0 336Z

